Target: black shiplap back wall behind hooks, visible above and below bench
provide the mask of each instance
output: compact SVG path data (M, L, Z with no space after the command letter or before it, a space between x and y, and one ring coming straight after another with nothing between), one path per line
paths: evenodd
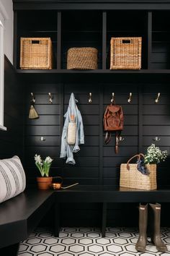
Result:
M87 80L87 79L86 79ZM85 81L86 81L85 80ZM80 82L81 81L81 82ZM35 183L37 168L33 156L38 153L45 157L50 155L55 160L51 168L53 176L63 176L65 184L79 182L80 184L104 184L117 186L120 178L120 163L138 152L146 151L153 139L161 138L156 145L162 150L169 151L169 89L163 82L148 83L128 81L115 82L82 82L71 79L64 83L31 83L25 88L26 111L25 120L25 169L29 183ZM29 120L28 111L30 93L35 94L35 108L40 119ZM53 95L53 104L50 104L48 93ZM67 165L59 158L63 114L68 107L71 93L79 101L78 107L84 120L85 144L81 145L79 153L74 154L76 165ZM88 103L89 92L92 93L92 103ZM104 145L102 119L104 109L110 103L112 92L115 92L115 101L121 104L125 114L125 127L122 131L123 141L120 142L119 154L115 155L115 137L109 145ZM132 102L128 103L129 93L133 93ZM160 92L160 101L155 103L157 93ZM43 136L45 141L41 141ZM158 165L158 188L170 186L169 159ZM109 204L107 225L137 225L137 205ZM102 205L63 205L63 226L97 225L101 219ZM123 211L122 211L123 209ZM123 213L123 214L122 214ZM126 213L127 218L123 215ZM95 219L95 221L94 221ZM166 219L166 218L164 218Z

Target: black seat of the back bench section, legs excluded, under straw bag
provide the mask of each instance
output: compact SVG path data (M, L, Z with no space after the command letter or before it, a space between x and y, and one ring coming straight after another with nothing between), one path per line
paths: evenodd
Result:
M55 190L57 202L170 202L170 189L141 190L113 186L81 186Z

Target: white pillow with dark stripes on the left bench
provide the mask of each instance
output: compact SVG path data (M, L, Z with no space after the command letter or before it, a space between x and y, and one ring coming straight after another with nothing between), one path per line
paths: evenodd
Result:
M24 168L17 155L0 160L0 202L15 197L26 187Z

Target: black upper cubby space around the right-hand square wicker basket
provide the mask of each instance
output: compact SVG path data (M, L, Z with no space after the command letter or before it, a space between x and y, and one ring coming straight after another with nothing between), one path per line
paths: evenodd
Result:
M107 12L107 69L109 69L110 39L112 37L142 37L142 69L147 69L147 20L146 11Z

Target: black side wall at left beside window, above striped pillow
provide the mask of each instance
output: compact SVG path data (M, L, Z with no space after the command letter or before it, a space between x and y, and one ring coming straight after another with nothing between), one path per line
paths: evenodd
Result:
M4 126L0 130L0 158L11 158L19 155L23 159L24 120L23 120L23 87L10 61L4 59Z

